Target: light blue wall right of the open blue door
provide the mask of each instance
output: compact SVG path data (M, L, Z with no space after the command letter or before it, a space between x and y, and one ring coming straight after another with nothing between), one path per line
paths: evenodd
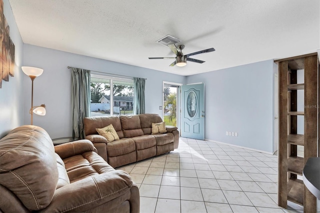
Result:
M195 82L205 84L206 139L273 151L273 60L187 77Z

